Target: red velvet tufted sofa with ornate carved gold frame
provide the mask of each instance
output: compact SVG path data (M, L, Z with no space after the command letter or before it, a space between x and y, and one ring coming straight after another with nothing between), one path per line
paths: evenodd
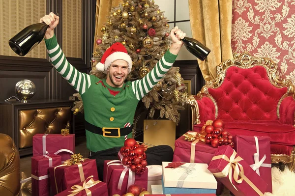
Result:
M200 132L207 120L222 119L232 135L269 136L272 163L294 169L295 88L278 76L277 64L248 53L217 66L217 77L206 82L187 102L192 127Z

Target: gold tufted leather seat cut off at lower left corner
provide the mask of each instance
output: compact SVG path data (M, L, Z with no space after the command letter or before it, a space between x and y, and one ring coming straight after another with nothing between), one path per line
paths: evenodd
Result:
M0 133L0 195L17 196L20 192L20 156L13 140Z

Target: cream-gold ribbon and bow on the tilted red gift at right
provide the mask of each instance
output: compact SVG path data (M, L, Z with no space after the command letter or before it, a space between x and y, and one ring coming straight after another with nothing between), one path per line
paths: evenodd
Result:
M217 178L224 178L229 177L229 180L233 187L236 189L236 186L232 182L232 175L233 175L233 169L234 169L234 180L236 183L240 184L243 180L259 195L264 196L264 194L244 175L244 168L241 164L238 162L243 160L240 156L237 156L236 158L236 151L233 152L230 158L228 158L226 155L218 155L212 158L211 161L217 160L217 159L224 159L225 161L229 162L225 168L221 172L213 173L213 175ZM240 170L239 170L240 168ZM238 176L241 178L238 179ZM236 189L237 190L237 189Z

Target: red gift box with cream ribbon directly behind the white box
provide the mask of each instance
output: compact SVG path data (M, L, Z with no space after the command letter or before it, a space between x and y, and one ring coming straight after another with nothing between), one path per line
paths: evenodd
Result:
M189 131L187 133L193 132ZM184 140L184 138L184 136L181 136L175 141L173 162L206 163L209 165L217 148L214 148L213 146L199 140L189 142ZM222 183L217 181L216 194L220 195L223 189L224 186Z

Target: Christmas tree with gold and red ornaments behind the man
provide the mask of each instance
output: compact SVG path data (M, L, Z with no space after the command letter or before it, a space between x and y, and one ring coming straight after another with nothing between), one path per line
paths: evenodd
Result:
M114 43L122 43L133 61L132 71L127 80L142 79L161 59L171 45L168 20L154 0L125 0L118 7L113 7L108 22L101 27L103 35L98 37L96 51L91 58L91 75L103 79L104 72L96 70L104 52ZM153 117L155 110L160 111L160 117L166 117L178 124L187 94L186 86L179 74L179 67L172 67L158 84L142 99L149 116ZM83 103L79 93L74 94L79 101L75 102L73 110L83 112ZM74 112L74 113L75 113Z

